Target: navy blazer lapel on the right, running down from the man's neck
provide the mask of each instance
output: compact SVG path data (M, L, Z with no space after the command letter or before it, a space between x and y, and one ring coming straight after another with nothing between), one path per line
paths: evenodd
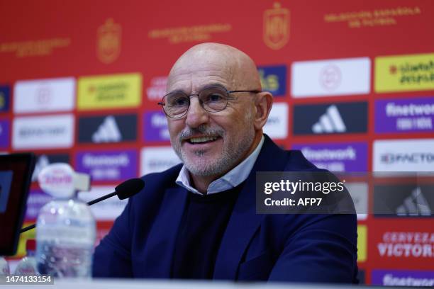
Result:
M257 157L223 235L214 268L214 279L235 280L238 265L245 249L264 215L256 214L256 172L283 171L288 154L265 135L265 142Z

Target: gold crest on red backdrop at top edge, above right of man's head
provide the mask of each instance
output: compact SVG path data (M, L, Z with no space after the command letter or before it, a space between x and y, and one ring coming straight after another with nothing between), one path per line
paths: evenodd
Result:
M264 42L274 50L279 50L289 40L289 10L280 3L264 11Z

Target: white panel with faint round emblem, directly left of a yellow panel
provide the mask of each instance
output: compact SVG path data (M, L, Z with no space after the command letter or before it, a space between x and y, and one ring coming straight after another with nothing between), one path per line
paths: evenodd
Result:
M13 88L14 113L72 111L75 104L75 79L17 81Z

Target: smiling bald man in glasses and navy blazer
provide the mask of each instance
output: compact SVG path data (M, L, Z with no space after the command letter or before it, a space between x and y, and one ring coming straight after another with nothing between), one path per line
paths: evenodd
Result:
M260 215L256 171L318 171L262 128L272 95L228 45L192 47L160 105L183 164L143 176L94 255L94 276L357 281L355 215Z

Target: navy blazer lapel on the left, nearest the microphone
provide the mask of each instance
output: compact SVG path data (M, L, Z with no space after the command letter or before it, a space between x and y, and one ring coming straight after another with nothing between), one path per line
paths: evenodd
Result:
M170 278L179 223L187 200L184 188L168 188L150 231L144 252L143 273L148 278Z

